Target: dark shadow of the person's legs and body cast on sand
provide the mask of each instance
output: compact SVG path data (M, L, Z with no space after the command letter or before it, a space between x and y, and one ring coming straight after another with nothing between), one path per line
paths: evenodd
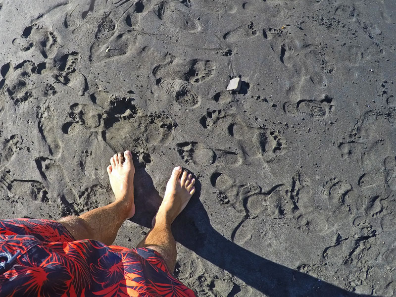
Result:
M138 171L139 170L139 171ZM144 168L135 179L136 215L133 222L151 227L162 198ZM262 258L224 238L210 225L199 200L201 185L172 226L175 240L268 297L364 297L325 281Z

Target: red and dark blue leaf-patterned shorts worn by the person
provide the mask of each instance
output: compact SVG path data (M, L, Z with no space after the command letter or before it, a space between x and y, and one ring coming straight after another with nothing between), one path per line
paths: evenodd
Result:
M49 220L0 220L0 262L1 297L196 296L156 251L76 241Z

